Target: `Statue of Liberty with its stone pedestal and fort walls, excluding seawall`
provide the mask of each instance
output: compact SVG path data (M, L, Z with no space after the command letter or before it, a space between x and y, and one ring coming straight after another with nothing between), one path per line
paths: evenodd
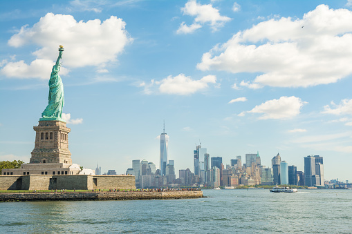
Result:
M3 169L0 190L62 190L62 189L135 189L132 175L95 175L94 170L73 164L68 149L68 133L62 119L64 108L64 85L59 76L64 47L59 46L59 56L49 79L48 106L41 114L38 126L33 129L35 148L29 164L20 168Z

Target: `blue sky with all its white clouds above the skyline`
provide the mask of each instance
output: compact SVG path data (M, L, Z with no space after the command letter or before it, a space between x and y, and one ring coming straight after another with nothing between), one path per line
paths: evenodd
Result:
M73 162L176 170L199 142L224 164L277 153L352 180L352 1L6 1L0 8L0 160L29 162L64 45Z

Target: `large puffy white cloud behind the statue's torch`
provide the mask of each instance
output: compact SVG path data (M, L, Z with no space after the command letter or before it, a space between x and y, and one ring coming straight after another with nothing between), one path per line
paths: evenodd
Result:
M54 61L58 55L58 46L64 45L64 66L102 66L116 61L118 54L132 41L125 26L122 19L114 16L103 22L100 19L77 22L71 15L48 13L32 28L23 26L17 34L12 35L8 44L16 48L25 44L39 47L33 55L40 61ZM24 62L22 63L17 65L24 67ZM9 64L6 66L14 65ZM27 77L34 75L28 73Z

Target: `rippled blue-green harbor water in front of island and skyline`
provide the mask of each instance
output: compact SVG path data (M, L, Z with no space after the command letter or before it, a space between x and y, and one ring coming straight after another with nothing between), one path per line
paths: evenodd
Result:
M351 190L203 190L199 199L3 202L0 233L351 233Z

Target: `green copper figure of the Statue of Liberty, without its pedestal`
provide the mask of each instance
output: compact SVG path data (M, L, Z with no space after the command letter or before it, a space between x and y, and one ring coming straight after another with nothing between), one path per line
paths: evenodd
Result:
M39 120L59 120L62 119L62 108L64 107L64 85L62 84L61 77L59 76L60 70L60 60L62 57L62 52L64 52L64 47L59 46L59 57L57 57L56 64L51 70L50 80L49 80L49 98L48 106L46 106L43 113L41 113L41 119Z

